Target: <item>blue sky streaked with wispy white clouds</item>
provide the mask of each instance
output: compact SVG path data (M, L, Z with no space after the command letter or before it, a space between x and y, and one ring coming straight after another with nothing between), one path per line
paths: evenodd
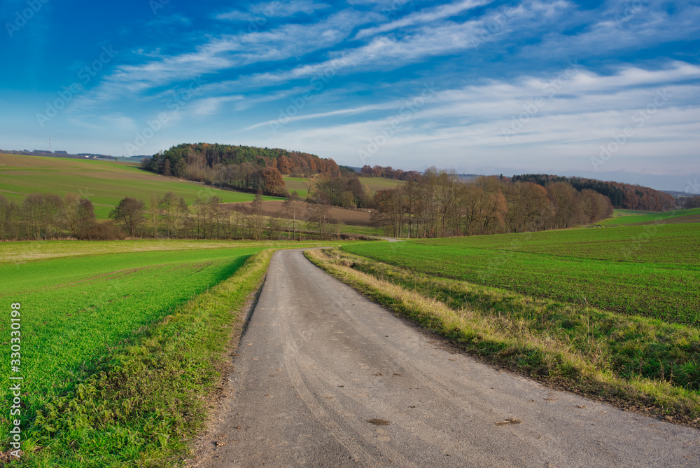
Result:
M700 1L3 0L0 148L186 142L700 193Z

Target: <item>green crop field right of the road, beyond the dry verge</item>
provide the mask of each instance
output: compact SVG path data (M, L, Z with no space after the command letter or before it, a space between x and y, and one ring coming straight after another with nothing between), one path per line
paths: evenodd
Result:
M351 245L416 273L700 325L698 224Z

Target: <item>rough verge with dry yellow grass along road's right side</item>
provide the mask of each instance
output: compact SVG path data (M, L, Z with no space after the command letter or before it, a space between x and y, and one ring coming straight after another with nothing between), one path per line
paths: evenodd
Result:
M700 427L700 329L307 250L372 301L487 362L554 387Z

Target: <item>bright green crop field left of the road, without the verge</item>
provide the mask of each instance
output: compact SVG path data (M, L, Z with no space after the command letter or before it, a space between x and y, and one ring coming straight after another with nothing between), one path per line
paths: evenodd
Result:
M0 296L22 304L28 417L90 376L113 347L134 343L148 326L230 277L261 249L99 254L0 265ZM9 351L8 343L0 346L3 355ZM0 395L6 403L6 387Z

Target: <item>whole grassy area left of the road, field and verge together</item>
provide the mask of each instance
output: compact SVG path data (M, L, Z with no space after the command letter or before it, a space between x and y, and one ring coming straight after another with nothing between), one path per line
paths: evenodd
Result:
M23 459L26 466L181 460L183 440L204 421L203 398L217 382L215 364L236 313L269 252L281 247L300 243L0 244L0 296L8 310L21 304L23 449L42 448ZM3 449L10 402L6 385Z

